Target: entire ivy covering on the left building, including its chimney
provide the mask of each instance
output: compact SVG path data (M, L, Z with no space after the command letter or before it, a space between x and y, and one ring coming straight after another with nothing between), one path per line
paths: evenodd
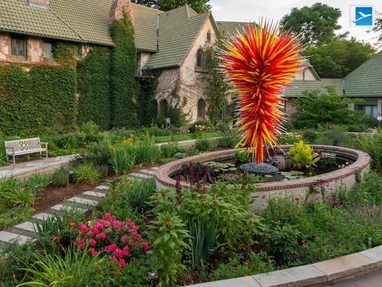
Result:
M89 120L101 129L156 123L158 75L135 77L134 29L126 14L114 20L110 35L114 47L96 47L78 62L75 45L57 42L60 65L0 66L0 133L67 132Z

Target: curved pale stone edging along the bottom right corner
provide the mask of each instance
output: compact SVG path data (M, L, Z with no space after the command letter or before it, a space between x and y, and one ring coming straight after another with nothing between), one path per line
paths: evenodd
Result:
M309 265L188 287L318 287L352 280L381 270L382 245Z

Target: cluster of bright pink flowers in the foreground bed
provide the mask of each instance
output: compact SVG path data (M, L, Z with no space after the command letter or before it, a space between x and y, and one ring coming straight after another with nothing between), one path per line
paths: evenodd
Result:
M88 228L85 224L78 225L79 247L84 249L89 243L88 252L96 255L105 250L110 255L110 262L115 262L119 268L126 266L127 256L137 248L148 250L146 241L141 243L139 227L127 218L125 221L116 220L115 216L106 213L102 219L95 220Z

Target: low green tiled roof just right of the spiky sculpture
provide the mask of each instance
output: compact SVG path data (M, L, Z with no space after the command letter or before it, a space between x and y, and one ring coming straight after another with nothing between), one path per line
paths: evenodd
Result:
M342 79L321 79L321 80L293 80L290 87L284 88L284 97L302 97L305 90L319 90L325 92L325 87L336 86L337 94L342 94Z

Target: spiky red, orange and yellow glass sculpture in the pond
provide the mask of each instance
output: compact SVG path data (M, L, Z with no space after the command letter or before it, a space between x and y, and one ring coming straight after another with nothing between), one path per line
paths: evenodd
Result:
M282 88L304 65L298 54L303 45L289 30L261 21L258 28L248 24L241 33L224 42L219 57L221 68L238 95L241 140L238 144L252 148L252 158L263 161L263 146L279 146L276 136L283 130L281 120Z

